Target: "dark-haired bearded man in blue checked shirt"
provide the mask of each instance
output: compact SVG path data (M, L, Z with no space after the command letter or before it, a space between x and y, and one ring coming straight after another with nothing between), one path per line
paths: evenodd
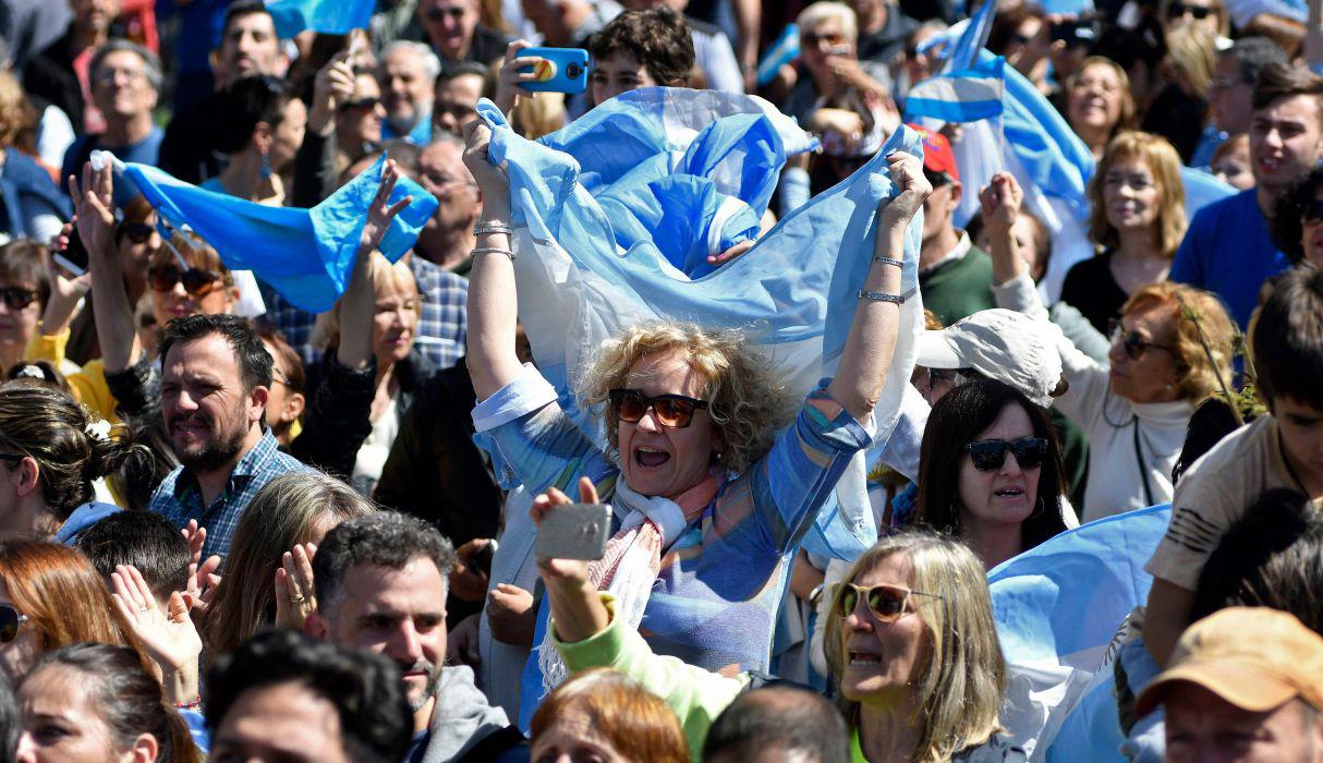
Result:
M307 471L266 426L271 353L241 317L194 315L160 336L161 415L180 465L148 509L175 526L206 529L204 558L225 557L253 496L273 477Z

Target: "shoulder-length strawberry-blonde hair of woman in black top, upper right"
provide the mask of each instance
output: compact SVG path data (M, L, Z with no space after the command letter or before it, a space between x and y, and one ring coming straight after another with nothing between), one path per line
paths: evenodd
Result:
M1167 143L1166 138L1136 130L1118 134L1107 143L1107 149L1098 163L1098 169L1089 182L1089 238L1102 249L1121 246L1121 235L1107 221L1107 205L1103 201L1103 186L1107 172L1125 159L1142 159L1158 185L1158 245L1163 257L1176 254L1181 238L1185 237L1185 182L1180 177L1180 155Z

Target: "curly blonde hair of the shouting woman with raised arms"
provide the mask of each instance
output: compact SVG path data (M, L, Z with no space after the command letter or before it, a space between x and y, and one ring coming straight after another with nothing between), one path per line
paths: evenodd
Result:
M680 353L704 381L700 397L708 401L708 415L725 442L721 465L742 473L767 452L791 410L785 385L773 378L744 332L708 331L687 323L630 327L602 345L581 382L581 402L589 410L605 407L610 452L617 454L620 421L606 405L610 391L628 386L630 370L644 357L672 352Z

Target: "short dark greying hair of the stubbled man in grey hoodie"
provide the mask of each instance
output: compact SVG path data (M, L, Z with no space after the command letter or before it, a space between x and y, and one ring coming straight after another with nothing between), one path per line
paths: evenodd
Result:
M312 559L318 608L328 619L335 618L351 567L402 570L417 558L431 559L445 581L455 566L455 549L433 525L398 512L377 512L336 525Z

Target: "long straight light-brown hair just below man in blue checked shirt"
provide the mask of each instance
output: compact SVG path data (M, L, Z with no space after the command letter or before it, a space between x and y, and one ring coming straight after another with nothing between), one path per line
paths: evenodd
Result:
M262 485L234 530L225 575L206 618L208 659L234 651L275 623L274 575L296 543L376 508L345 483L321 473L280 475Z

